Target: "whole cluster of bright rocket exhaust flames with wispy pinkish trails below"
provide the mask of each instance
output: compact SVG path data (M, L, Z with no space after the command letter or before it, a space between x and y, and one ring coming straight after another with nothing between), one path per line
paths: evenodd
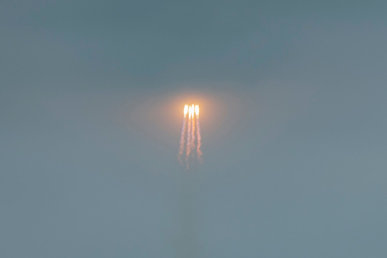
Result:
M184 105L183 114L184 114L184 119L183 119L182 133L180 136L178 160L180 164L183 165L183 153L185 150L185 162L188 169L190 161L192 161L192 159L195 159L195 157L200 164L202 164L203 162L203 158L202 158L203 153L200 150L200 146L202 145L202 137L200 135L199 105L194 105L194 104L190 106L187 104ZM188 118L187 118L187 114L188 114ZM187 120L188 120L188 123L187 123ZM196 135L196 139L195 139L195 135ZM187 144L184 146L186 142L185 141L186 137L187 137ZM193 154L192 156L190 156L191 152L193 153L193 151L195 150L197 155Z

